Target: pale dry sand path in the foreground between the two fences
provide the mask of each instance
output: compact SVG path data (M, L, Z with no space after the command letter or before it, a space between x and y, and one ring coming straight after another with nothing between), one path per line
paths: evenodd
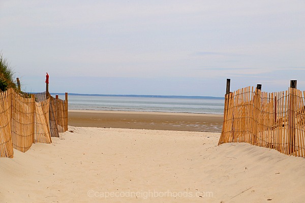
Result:
M305 201L304 158L215 132L69 130L0 158L0 202Z

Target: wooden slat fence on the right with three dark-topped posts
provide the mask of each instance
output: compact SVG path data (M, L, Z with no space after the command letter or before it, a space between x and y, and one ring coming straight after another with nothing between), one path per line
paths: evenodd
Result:
M261 85L234 92L227 86L219 145L245 142L305 157L305 91L293 84L273 93L261 92Z

